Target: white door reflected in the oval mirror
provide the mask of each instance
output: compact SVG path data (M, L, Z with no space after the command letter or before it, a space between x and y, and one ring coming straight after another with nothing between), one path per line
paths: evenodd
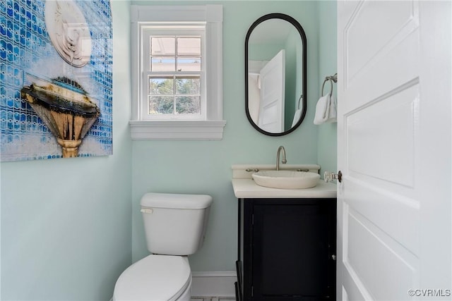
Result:
M285 51L279 51L261 70L259 128L284 132Z

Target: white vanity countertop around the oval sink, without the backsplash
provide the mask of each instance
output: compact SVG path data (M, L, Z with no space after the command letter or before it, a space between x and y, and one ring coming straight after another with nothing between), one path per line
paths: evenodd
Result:
M306 189L278 189L278 188L266 188L254 183L251 179L232 179L232 188L234 188L235 197L242 198L297 198L297 197L315 197L326 198L336 197L336 184L325 183L324 180L319 180L319 184L313 188Z

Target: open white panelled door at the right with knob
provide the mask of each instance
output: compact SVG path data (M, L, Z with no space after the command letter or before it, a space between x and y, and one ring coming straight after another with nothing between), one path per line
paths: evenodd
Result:
M338 1L338 300L451 300L451 1Z

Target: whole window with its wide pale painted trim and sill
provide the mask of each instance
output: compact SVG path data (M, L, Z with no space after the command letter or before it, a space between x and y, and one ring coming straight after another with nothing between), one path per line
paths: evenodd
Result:
M131 14L132 139L222 139L222 6Z

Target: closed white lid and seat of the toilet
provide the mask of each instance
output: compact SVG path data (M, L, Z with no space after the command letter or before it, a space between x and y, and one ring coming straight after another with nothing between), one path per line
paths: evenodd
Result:
M119 276L114 300L174 300L190 283L187 257L149 255Z

